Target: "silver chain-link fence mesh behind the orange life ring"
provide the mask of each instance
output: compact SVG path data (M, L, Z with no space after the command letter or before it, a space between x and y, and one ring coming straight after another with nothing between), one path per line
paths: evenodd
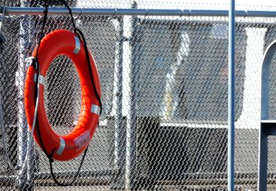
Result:
M53 2L50 6L62 5ZM8 6L42 3L10 1ZM153 1L68 3L82 8L228 8ZM42 17L6 15L2 27L6 41L0 49L1 136L17 170L30 136L23 104L25 60L37 46ZM17 177L1 141L0 190L226 190L228 18L79 15L75 20L95 57L103 103L77 181L68 187L55 185L48 158L36 143L23 176ZM276 38L275 19L236 21L235 187L257 190L261 64L264 50ZM46 34L59 28L72 30L70 17L48 16ZM275 65L270 69L271 119L276 117ZM43 96L52 128L68 134L81 109L79 76L68 57L56 57L50 65ZM275 138L269 144L268 190L276 190ZM81 157L55 161L59 181L73 179Z

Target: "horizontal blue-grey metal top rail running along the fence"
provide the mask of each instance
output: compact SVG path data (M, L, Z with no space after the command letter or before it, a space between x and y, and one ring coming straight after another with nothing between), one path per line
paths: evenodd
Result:
M0 8L3 10L3 7ZM6 7L6 15L43 15L41 7ZM48 8L48 15L68 15L67 8ZM99 16L201 16L228 17L228 10L180 10L135 8L72 8L73 15ZM236 17L276 17L276 11L236 10Z

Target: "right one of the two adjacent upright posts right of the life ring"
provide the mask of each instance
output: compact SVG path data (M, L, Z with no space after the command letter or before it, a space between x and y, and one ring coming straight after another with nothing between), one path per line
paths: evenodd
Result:
M132 4L137 8L137 3ZM136 104L137 104L137 17L131 19L130 114L126 128L126 190L132 190L136 170Z

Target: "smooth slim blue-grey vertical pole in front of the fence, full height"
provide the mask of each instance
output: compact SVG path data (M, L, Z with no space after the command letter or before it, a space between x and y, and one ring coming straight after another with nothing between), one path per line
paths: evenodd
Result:
M235 0L229 1L228 24L228 190L235 188Z

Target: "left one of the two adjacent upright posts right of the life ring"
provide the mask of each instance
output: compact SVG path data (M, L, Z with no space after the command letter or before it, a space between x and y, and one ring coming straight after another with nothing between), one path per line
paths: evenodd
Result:
M117 100L116 100L116 120L115 120L115 170L119 172L116 174L115 180L113 180L113 189L124 189L125 185L125 163L126 163L126 152L125 152L125 130L123 125L123 47L124 47L124 18L120 17L119 26L119 39L116 51L116 83L117 83Z

